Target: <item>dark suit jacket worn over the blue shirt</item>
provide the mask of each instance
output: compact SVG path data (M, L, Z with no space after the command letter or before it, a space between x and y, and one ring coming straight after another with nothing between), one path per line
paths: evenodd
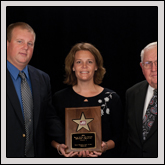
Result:
M45 133L61 141L63 129L51 104L49 76L32 66L28 66L33 93L34 151L35 157L45 156ZM18 96L7 70L7 110L6 110L7 157L24 157L25 128Z

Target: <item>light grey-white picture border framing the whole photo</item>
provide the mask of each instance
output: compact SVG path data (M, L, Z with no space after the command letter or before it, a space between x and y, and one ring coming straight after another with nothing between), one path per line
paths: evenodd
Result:
M6 7L158 6L158 158L6 158ZM164 164L164 1L1 1L1 164Z

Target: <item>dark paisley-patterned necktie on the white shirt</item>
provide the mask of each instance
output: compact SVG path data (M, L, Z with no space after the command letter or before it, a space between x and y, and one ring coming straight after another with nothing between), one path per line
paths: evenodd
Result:
M143 119L143 140L146 140L146 137L155 121L157 116L157 89L154 90L154 95L150 100L146 114Z

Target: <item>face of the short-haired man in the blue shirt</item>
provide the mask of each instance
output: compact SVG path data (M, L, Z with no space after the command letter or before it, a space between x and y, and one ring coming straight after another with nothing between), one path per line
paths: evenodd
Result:
M7 41L7 60L19 70L23 70L32 58L35 36L27 29L16 27L11 41Z

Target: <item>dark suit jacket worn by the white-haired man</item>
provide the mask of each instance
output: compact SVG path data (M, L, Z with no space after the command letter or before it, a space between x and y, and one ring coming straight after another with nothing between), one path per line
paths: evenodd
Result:
M124 143L125 157L158 157L158 122L151 127L147 139L142 139L142 115L145 103L147 81L142 81L126 92Z

